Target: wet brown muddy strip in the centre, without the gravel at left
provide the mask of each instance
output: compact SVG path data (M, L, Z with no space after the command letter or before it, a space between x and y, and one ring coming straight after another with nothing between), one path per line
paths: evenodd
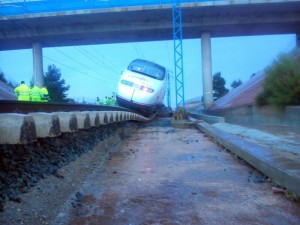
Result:
M62 224L300 224L300 205L262 177L196 129L143 126Z

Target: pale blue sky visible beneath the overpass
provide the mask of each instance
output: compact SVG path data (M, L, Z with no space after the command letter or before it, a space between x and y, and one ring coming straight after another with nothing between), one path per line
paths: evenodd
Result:
M221 72L227 88L243 82L270 65L280 53L291 51L295 35L213 38L212 71ZM68 97L94 102L116 91L121 72L136 59L146 59L174 70L173 41L44 48L44 72L49 64L61 69L71 86ZM185 99L202 96L200 39L183 41ZM8 80L29 84L33 75L32 50L0 51L0 68ZM174 78L171 81L175 104Z

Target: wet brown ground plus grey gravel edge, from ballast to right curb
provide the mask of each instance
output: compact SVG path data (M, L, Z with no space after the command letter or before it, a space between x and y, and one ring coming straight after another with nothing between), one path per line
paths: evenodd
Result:
M1 224L300 224L299 203L198 130L165 118L136 131L6 204Z

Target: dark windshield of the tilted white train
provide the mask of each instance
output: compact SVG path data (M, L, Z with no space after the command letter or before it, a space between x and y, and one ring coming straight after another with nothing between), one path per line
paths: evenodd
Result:
M155 78L157 80L163 80L166 74L166 69L164 67L141 59L134 60L128 66L128 70Z

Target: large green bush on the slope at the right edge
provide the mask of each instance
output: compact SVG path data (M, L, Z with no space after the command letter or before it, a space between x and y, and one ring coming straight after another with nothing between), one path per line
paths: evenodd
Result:
M258 105L300 105L300 57L283 54L266 71Z

